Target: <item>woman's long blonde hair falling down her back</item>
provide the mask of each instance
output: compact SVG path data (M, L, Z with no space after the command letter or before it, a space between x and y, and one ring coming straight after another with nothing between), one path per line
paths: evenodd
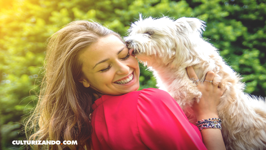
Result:
M38 103L25 123L26 135L34 141L76 140L77 145L33 145L33 149L91 149L90 114L95 97L92 89L79 82L84 76L78 58L81 51L109 34L121 39L98 23L74 21L49 39L45 76Z

